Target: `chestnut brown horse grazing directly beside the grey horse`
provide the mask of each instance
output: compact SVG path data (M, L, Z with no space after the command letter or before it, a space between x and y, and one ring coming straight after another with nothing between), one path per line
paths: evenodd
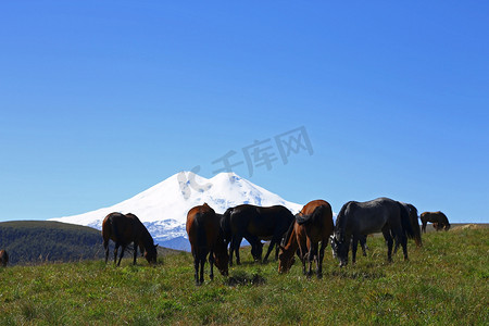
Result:
M287 273L293 264L293 255L299 248L302 272L305 273L305 261L309 263L308 277L312 275L312 261L316 263L316 275L323 275L324 250L333 235L331 205L324 200L309 202L296 215L296 221L286 235L286 246L280 247L278 272ZM319 248L321 242L321 248Z

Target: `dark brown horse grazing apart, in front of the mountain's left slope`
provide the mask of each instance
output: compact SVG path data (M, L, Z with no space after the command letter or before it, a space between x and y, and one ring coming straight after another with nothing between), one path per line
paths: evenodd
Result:
M105 264L109 259L109 240L115 242L114 248L114 263L117 260L118 247L122 251L118 258L117 266L121 265L121 260L127 246L134 242L134 264L136 265L136 256L139 250L142 253L145 250L145 258L148 263L156 262L156 246L154 246L153 238L149 234L146 226L139 218L131 214L110 213L105 216L102 223L103 248L105 248Z

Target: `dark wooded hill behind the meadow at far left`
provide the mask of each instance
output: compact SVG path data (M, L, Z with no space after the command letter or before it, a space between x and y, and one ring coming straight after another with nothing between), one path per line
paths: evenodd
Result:
M111 241L111 255L113 242ZM9 253L10 264L38 264L104 259L100 230L51 221L0 223L0 249ZM174 252L161 248L164 255ZM129 256L128 253L125 256Z

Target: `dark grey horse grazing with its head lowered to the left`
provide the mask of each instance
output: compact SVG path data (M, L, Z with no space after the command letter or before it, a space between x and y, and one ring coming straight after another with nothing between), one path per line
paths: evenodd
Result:
M381 231L387 242L387 260L392 261L393 239L401 243L404 260L408 259L408 236L414 237L408 210L389 198L377 198L366 202L349 201L336 218L333 237L340 266L348 264L350 240L361 235ZM352 263L355 263L356 246L352 248Z

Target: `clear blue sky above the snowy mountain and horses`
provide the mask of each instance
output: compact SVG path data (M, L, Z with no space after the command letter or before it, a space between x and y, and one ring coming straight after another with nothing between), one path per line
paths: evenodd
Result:
M212 177L303 126L313 154L235 172L336 212L387 196L489 222L488 3L162 2L2 3L0 221Z

